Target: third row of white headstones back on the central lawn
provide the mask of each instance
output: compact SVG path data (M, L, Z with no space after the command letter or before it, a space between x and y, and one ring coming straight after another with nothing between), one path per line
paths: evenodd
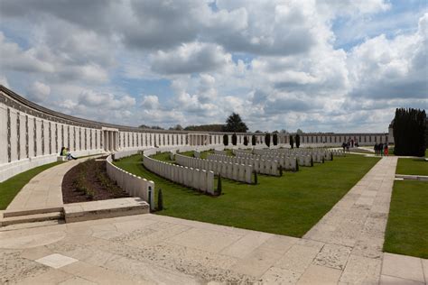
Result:
M221 161L225 163L237 163L244 165L252 165L257 173L279 176L278 161L256 160L253 158L233 157L222 154L212 154L207 156L209 161Z

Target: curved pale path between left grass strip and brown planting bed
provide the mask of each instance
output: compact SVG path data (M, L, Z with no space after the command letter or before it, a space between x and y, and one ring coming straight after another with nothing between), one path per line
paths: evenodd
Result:
M77 161L67 161L37 174L21 189L6 208L6 211L62 207L61 184L65 173L80 162L92 158L94 157L82 158Z

